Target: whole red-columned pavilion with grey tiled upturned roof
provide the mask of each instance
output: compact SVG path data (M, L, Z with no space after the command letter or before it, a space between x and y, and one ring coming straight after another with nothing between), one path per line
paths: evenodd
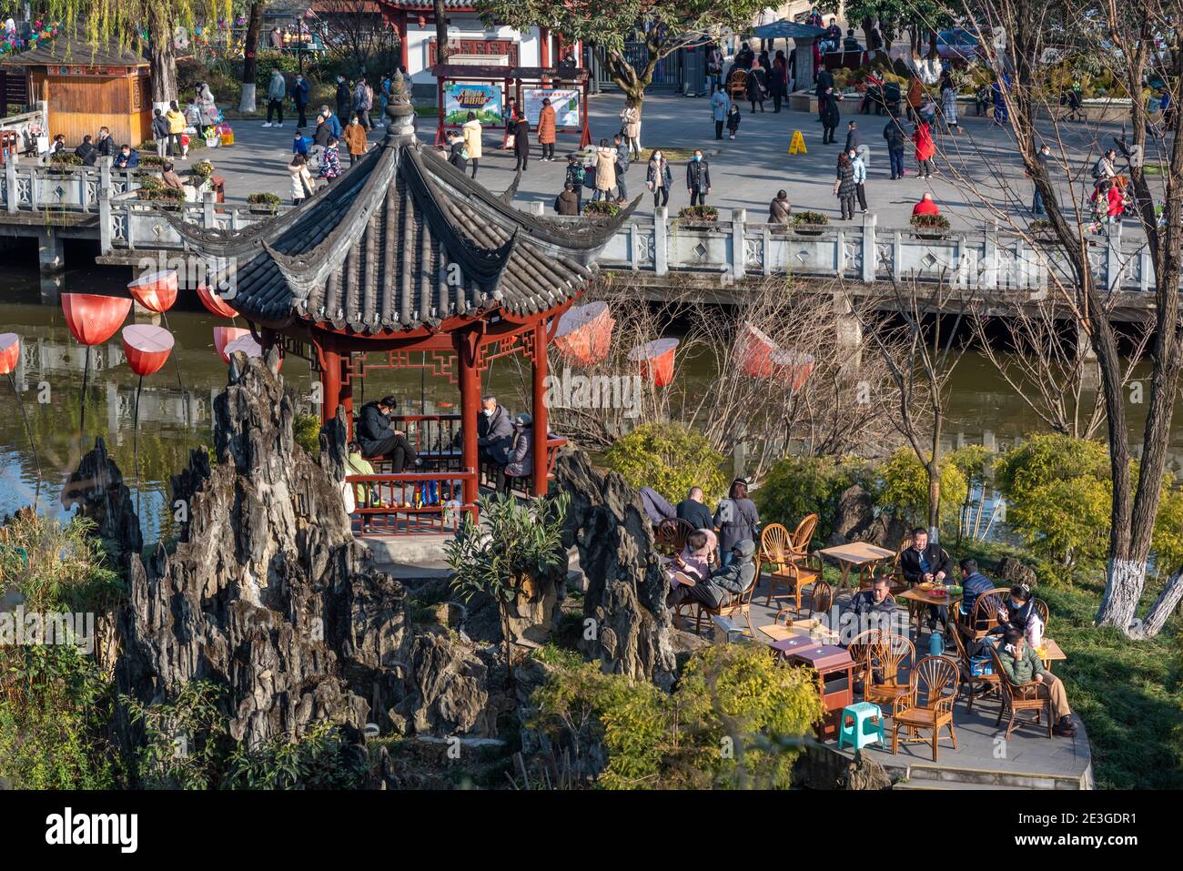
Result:
M231 304L265 347L310 360L327 417L341 406L351 426L355 380L367 368L426 366L458 383L458 475L450 479L463 480L468 508L481 372L524 354L534 430L548 432L548 342L631 209L574 226L521 212L511 192L490 193L415 138L401 77L389 97L386 140L298 209L241 231L170 220L203 257L238 264ZM532 490L543 493L548 451L536 445Z

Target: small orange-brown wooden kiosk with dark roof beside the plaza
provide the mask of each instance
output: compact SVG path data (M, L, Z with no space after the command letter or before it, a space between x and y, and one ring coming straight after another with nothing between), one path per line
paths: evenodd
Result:
M51 138L65 134L73 147L101 127L117 144L151 137L148 59L131 49L63 36L0 64L27 67L30 101L45 101Z

